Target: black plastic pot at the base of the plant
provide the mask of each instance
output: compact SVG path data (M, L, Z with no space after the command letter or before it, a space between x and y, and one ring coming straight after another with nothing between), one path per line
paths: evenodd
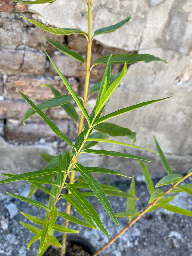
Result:
M61 243L62 241L62 236L57 236L56 237L58 239L58 241ZM78 246L82 246L83 250L85 252L88 252L90 255L92 255L93 253L96 252L94 246L92 244L90 244L86 239L84 239L81 236L77 236L77 235L72 235L72 234L68 234L67 236L67 241L70 242L71 244L76 244ZM51 248L51 246L49 246L46 250L49 251ZM46 253L44 252L44 254ZM43 256L44 256L43 254ZM54 253L52 253L52 256L55 256Z

